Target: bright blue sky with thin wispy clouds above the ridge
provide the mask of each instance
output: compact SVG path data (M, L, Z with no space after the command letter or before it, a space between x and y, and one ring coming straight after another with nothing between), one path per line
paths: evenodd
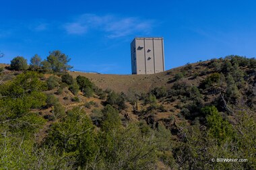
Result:
M166 69L256 56L256 1L1 1L0 62L61 50L75 69L131 74L135 37L163 37Z

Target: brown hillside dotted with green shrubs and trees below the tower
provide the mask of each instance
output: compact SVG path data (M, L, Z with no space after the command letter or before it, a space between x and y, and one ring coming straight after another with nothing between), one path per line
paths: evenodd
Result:
M254 58L228 56L155 75L0 67L1 132L15 147L9 158L56 168L50 161L55 158L59 169L256 168ZM22 149L38 153L22 156L22 138L36 145ZM211 161L221 157L247 162Z

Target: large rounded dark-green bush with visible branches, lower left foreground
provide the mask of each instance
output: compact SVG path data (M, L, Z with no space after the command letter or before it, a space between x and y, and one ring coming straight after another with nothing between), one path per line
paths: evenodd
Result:
M67 112L63 122L53 124L46 145L57 148L61 157L73 157L75 167L88 166L96 157L96 134L92 121L79 108Z

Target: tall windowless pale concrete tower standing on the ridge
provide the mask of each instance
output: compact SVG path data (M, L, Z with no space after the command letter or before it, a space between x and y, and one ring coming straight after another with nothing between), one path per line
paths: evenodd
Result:
M164 71L164 38L134 38L131 42L131 71L134 75Z

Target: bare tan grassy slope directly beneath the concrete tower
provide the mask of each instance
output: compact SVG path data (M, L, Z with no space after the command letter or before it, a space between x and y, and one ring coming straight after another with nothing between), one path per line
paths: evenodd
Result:
M207 63L201 62L202 63ZM204 67L200 63L191 64L193 67L189 71L187 78L189 79L193 73L199 73ZM196 67L196 69L195 69ZM102 75L102 74L92 74L92 73L79 73L79 72L69 72L73 77L77 75L82 75L88 77L92 82L94 82L98 87L102 89L113 89L117 92L124 92L130 90L136 90L139 93L147 93L150 89L157 86L165 86L167 89L171 87L171 80L176 73L179 73L184 67L179 67L176 69L170 69L162 73L156 73L154 75ZM191 83L198 83L198 80L193 80Z

